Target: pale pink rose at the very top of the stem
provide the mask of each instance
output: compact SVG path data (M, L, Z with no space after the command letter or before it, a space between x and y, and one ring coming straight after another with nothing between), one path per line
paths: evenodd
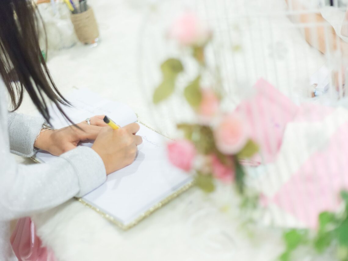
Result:
M169 37L177 40L183 46L204 45L211 32L192 12L187 12L175 19L169 29Z

